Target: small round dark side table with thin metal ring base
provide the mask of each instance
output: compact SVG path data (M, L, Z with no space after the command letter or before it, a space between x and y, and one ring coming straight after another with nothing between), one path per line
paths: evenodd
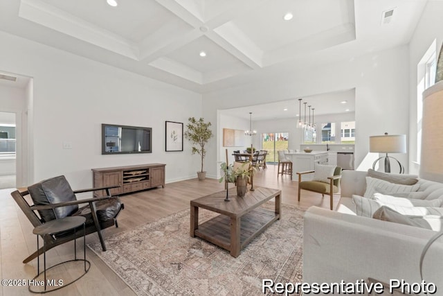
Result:
M42 275L42 273L44 274L44 285L29 285L28 286L28 290L32 293L48 293L54 290L58 290L60 288L66 287L69 284L72 284L73 282L77 281L78 279L80 279L81 277L83 277L84 275L86 275L86 273L89 271L89 268L91 268L91 263L89 263L89 261L87 261L86 259L86 241L85 241L85 225L84 223L86 222L86 218L84 218L83 216L70 216L70 217L65 217L65 218L60 218L60 219L55 219L55 220L51 220L49 222L46 222L42 225L39 225L37 227L34 228L33 230L33 234L37 234L37 250L39 250L39 236L42 236L43 238L43 247L44 247L44 251L43 251L43 271L40 272L40 256L37 256L37 275L34 277L33 281L37 280L37 277L39 277L39 275ZM73 260L68 260L68 261L64 261L61 263L58 263L56 265L51 266L50 268L46 268L46 240L44 239L45 236L57 236L57 234L60 234L62 232L68 232L68 231L73 231L73 232L77 232L78 227L82 226L83 228L83 252L84 252L84 256L83 259L77 259L77 243L76 240L74 239L74 259ZM63 239L63 238L60 238ZM55 266L58 265L62 265L64 263L68 263L68 262L72 262L72 261L84 261L84 272L77 277L76 279L73 279L73 281L70 281L69 283L65 283L63 282L62 285L60 286L56 286L56 288L53 288L51 290L47 290L47 284L48 284L48 280L46 279L46 271L50 270L51 268L54 268ZM87 266L88 265L88 266ZM37 281L36 281L37 282ZM57 282L53 281L54 284L57 284ZM32 281L30 281L30 283L32 283ZM35 287L41 287L44 286L44 290L39 291L39 290L33 290L33 288Z

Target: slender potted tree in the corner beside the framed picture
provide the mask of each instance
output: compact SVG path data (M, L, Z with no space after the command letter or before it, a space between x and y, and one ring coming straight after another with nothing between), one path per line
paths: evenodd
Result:
M188 119L189 123L186 125L186 132L184 136L192 143L192 154L199 154L201 157L201 170L197 172L199 180L205 180L206 171L203 171L203 160L206 155L205 145L209 139L213 137L213 131L210 130L210 122L206 123L204 119L199 120L194 117Z

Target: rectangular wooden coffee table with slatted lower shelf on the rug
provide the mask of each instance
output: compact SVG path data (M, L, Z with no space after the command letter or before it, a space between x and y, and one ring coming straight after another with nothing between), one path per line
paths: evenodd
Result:
M281 218L282 191L255 187L255 191L248 191L243 198L238 197L235 190L232 191L234 192L229 195L228 202L224 201L226 191L191 200L190 236L203 238L230 251L231 256L237 257L240 250L255 236ZM272 198L275 198L275 211L260 207ZM221 215L199 225L199 208L215 211Z

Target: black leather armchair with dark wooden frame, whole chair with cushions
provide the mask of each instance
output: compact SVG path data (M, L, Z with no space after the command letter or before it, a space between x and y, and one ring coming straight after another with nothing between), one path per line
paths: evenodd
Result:
M34 227L50 220L67 216L84 216L87 219L86 234L97 232L102 244L102 250L106 251L101 230L112 225L118 227L117 216L124 209L124 204L120 202L118 196L111 196L109 193L109 189L115 187L118 186L73 191L66 178L62 175L33 184L28 187L27 191L13 191L11 195ZM97 190L105 190L107 196L83 200L77 200L75 197L75 193ZM26 195L30 195L33 204L29 204L26 201ZM79 204L87 205L79 207ZM61 233L55 236L45 236L46 251L82 235L82 233L78 232L77 234ZM24 259L23 263L28 263L37 258L39 254L43 254L43 247Z

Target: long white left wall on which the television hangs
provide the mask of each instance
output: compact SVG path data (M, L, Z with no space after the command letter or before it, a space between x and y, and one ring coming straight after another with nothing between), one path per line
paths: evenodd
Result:
M195 177L198 155L165 153L165 121L200 117L201 95L0 32L0 69L34 78L29 183L66 175L74 189L92 186L91 168L161 162L166 181ZM29 113L29 112L28 112ZM152 128L150 154L101 155L101 123ZM68 141L72 149L62 149Z

